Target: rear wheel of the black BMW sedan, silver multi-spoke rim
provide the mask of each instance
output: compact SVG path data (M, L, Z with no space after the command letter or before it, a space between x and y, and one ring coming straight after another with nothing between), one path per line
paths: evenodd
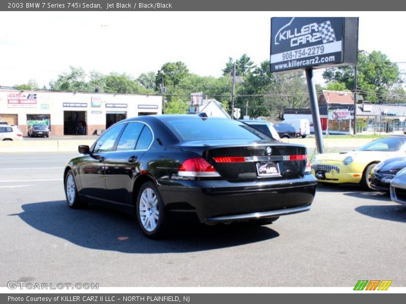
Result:
M137 220L144 235L150 239L160 239L167 235L169 218L158 188L152 181L141 186L136 209Z

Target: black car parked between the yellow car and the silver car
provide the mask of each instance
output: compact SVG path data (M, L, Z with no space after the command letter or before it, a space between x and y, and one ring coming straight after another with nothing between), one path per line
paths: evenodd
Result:
M394 157L378 163L371 173L371 187L378 191L389 192L390 182L403 168L406 168L406 156Z

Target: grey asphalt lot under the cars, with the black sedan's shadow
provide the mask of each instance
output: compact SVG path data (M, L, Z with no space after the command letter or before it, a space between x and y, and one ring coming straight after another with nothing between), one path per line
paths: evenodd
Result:
M0 156L0 286L406 286L406 207L388 195L320 185L309 212L271 225L179 225L152 241L129 215L66 206L62 173L74 155Z

